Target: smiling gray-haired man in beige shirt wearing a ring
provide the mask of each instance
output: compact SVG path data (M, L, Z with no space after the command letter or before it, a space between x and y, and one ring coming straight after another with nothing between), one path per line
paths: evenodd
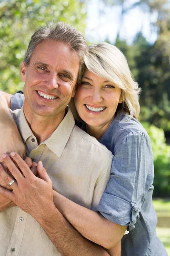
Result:
M38 163L40 178L18 154L12 152L11 158L23 175L3 154L15 179L0 165L1 180L13 189L0 187L2 256L109 255L74 230L53 202L52 186L95 210L110 177L111 152L77 128L67 109L81 78L85 51L82 34L65 23L40 28L31 37L21 65L25 102L12 115L26 154ZM18 207L12 207L15 204Z

